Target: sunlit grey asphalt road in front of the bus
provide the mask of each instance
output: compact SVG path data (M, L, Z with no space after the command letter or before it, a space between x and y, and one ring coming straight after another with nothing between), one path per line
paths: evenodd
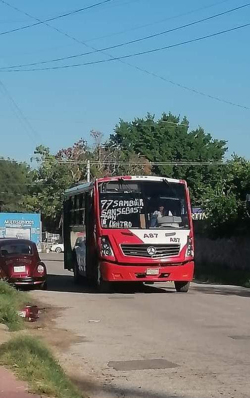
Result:
M122 287L100 294L75 286L62 255L43 255L54 322L75 338L60 360L88 397L250 397L250 289L192 284ZM63 345L63 342L62 342Z

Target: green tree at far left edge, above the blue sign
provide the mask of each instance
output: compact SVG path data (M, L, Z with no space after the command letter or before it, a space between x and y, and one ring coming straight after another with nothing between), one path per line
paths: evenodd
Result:
M0 160L0 203L2 212L25 211L32 172L26 163Z

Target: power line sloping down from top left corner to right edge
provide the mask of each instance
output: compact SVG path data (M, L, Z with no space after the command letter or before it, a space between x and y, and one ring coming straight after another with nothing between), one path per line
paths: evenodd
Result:
M62 30L60 30L60 29L58 29L58 28L55 28L54 26L52 26L52 25L50 25L50 24L48 24L48 23L45 23L45 22L41 21L41 20L38 19L37 17L35 17L35 16L33 16L33 15L30 15L30 14L28 14L27 12L18 9L18 8L12 6L12 5L9 4L9 3L8 3L8 5L9 5L9 7L14 8L14 9L18 10L19 12L21 12L21 13L23 13L23 14L29 16L30 18L35 19L35 20L37 20L37 21L40 21L41 23L44 23L44 25L46 25L46 26L50 27L51 29L55 30L56 32L58 32L58 33L60 33L60 34L62 34L62 35L64 35L64 36L68 37L69 39L75 41L76 43L83 44L85 47L91 48L92 50L97 50L95 47L86 44L86 42L84 42L84 41L82 41L82 40L79 40L79 39L77 39L76 37L74 37L74 36L72 36L72 35L69 35L67 32L64 32L64 31L62 31ZM112 58L112 56L111 56L110 54L108 54L107 52L102 51L101 53L104 54L104 55L106 55L106 56L109 57L109 58ZM147 69L145 69L145 68L142 68L142 67L139 67L139 66L137 66L137 65L134 65L134 64L132 64L132 63L130 63L130 62L128 62L128 61L125 61L125 60L122 60L122 59L117 59L117 61L120 62L120 63L123 63L124 65L127 65L127 66L130 66L130 67L134 68L134 69L137 69L137 70L139 70L139 71L141 71L141 72L144 72L144 73L146 73L146 74L148 74L148 75L150 75L150 76L156 77L156 78L158 78L158 79L160 79L160 80L162 80L162 81L165 81L165 82L167 82L167 83L170 83L170 84L172 84L172 85L174 85L174 86L176 86L176 87L182 88L182 89L184 89L184 90L193 92L193 93L195 93L195 94L199 94L199 95L201 95L201 96L203 96L203 97L210 98L210 99L212 99L212 100L215 100L215 101L218 101L218 102L221 102L221 103L224 103L224 104L232 105L232 106L235 106L235 107L238 107L238 108L241 108L241 109L244 109L244 110L248 110L248 111L250 110L249 107L246 107L246 106L241 105L241 104L234 103L234 102L232 102L232 101L224 100L223 98L220 98L220 97L217 97L217 96L212 96L212 95L210 95L210 94L203 93L202 91L199 91L199 90L194 89L194 88L192 88L192 87L188 87L188 86L186 86L186 85L183 85L183 84L180 84L180 83L178 83L178 82L175 82L175 81L173 81L173 80L171 80L171 79L167 79L166 77L161 76L161 75L159 75L159 74L157 74L157 73L150 72L149 70L147 70Z

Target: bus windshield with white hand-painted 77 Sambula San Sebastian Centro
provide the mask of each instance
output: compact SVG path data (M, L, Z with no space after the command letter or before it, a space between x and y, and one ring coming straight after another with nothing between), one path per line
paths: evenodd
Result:
M116 180L99 184L102 228L189 229L183 183Z

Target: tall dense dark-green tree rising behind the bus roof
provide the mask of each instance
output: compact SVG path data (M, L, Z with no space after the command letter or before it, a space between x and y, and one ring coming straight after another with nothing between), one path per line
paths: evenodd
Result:
M159 120L148 114L133 121L120 120L110 136L110 146L116 146L125 156L135 153L150 162L176 162L176 166L158 165L152 172L186 179L194 204L200 204L208 188L214 188L221 168L214 166L178 166L178 162L220 162L227 151L226 141L213 139L199 127L189 131L186 117L163 113Z

